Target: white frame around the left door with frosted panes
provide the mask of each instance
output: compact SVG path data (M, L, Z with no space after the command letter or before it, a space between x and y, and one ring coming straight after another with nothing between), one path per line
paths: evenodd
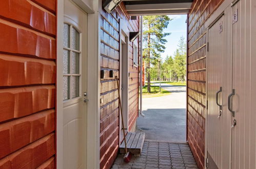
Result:
M88 13L87 59L87 168L100 168L100 79L99 72L99 1L93 1L93 10L83 0L75 1ZM80 5L82 4L82 5ZM94 13L92 13L94 12ZM63 23L64 1L57 1L56 38L56 166L63 168Z

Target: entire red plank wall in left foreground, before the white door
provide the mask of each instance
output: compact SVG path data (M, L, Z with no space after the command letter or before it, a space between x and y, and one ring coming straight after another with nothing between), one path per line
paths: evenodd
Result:
M55 0L0 6L0 168L54 168Z

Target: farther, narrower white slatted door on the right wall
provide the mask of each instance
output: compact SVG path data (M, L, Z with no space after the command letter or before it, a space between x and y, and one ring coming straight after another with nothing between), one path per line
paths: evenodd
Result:
M222 161L222 111L216 104L216 93L223 88L224 32L223 18L219 18L208 30L208 113L207 113L207 152L220 168ZM222 28L220 28L222 27ZM222 104L222 92L218 94Z

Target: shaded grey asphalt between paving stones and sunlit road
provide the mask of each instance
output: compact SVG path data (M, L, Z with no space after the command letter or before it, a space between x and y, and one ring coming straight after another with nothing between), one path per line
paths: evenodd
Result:
M137 131L145 139L168 142L186 141L186 109L147 109L137 119Z

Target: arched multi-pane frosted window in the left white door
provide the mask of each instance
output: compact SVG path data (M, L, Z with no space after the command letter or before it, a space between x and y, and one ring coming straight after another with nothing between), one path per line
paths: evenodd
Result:
M63 100L80 96L81 33L64 23L63 33Z

